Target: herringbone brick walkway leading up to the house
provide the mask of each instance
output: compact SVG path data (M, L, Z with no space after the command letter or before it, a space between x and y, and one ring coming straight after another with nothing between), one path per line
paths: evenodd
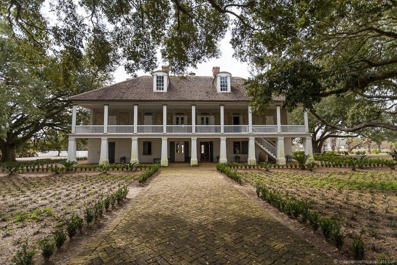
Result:
M71 264L330 263L233 187L214 164L161 169Z

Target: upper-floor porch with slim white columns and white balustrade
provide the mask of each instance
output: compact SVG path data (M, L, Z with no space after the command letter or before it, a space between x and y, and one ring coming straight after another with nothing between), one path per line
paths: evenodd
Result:
M98 135L281 135L299 137L309 133L305 125L290 125L281 104L269 106L263 115L252 113L240 102L79 102L90 110L90 124L77 124L73 105L72 130L75 136ZM294 135L294 136L293 136Z

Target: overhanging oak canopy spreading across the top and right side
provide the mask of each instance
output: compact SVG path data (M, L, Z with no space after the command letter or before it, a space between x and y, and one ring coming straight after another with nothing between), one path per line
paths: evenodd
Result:
M176 74L221 53L232 32L235 56L247 61L256 111L272 94L286 107L303 104L338 131L397 130L396 0L4 0L0 17L11 36L71 62L85 54L98 70L158 66ZM43 10L46 16L43 16ZM60 62L60 61L59 61ZM353 97L348 121L328 121L316 104ZM353 112L351 112L353 113ZM355 115L359 119L355 118Z

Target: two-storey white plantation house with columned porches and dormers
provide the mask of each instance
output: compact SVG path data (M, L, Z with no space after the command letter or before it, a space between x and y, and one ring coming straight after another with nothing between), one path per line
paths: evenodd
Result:
M88 163L274 161L292 155L291 138L305 139L312 155L307 113L305 125L289 125L283 97L262 116L248 106L243 79L214 67L212 77L168 75L129 79L70 98L73 102L69 160L76 160L76 139L88 139ZM77 105L91 113L89 125L76 124Z

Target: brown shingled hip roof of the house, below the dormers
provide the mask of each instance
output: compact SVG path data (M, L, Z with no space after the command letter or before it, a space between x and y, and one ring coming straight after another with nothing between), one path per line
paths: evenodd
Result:
M72 96L72 101L240 101L250 97L243 86L244 80L231 78L231 92L218 92L213 77L169 76L166 92L153 91L153 77L141 76L104 88ZM273 101L283 101L282 96L273 96Z

